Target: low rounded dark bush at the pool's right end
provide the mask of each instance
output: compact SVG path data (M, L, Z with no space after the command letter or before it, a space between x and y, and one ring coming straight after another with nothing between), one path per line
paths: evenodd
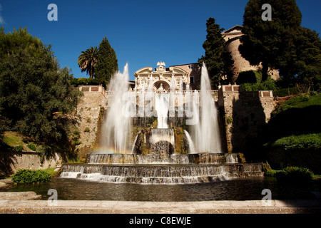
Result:
M313 172L305 167L286 167L275 173L278 182L289 184L307 184L312 181Z

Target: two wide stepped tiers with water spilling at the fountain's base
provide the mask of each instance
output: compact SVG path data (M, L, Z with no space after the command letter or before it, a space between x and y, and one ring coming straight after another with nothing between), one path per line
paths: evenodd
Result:
M146 157L88 155L86 164L64 164L61 177L117 183L195 184L263 175L260 163L238 163L237 154L173 154L167 162L159 163L149 162Z

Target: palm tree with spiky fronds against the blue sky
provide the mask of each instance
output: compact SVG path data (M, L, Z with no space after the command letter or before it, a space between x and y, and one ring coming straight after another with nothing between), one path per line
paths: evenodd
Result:
M86 71L87 74L89 73L89 78L93 78L97 58L97 47L91 47L90 49L88 48L86 51L81 51L81 55L78 56L78 66L81 68L81 72Z

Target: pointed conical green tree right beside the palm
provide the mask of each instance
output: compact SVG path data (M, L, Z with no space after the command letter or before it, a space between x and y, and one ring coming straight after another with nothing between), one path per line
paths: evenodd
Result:
M116 52L111 47L106 36L99 44L98 60L96 64L96 78L106 80L111 79L113 74L118 71L118 60Z

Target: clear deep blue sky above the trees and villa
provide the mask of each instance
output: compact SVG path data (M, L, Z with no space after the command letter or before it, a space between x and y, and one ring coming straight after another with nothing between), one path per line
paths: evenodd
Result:
M195 63L204 54L206 20L228 29L243 24L248 0L0 0L0 26L5 32L27 27L29 33L51 44L62 67L81 73L77 58L86 48L98 46L104 36L115 49L118 66L128 63L130 79L146 66ZM58 21L48 21L47 6L58 6ZM320 0L297 0L302 26L321 32Z

